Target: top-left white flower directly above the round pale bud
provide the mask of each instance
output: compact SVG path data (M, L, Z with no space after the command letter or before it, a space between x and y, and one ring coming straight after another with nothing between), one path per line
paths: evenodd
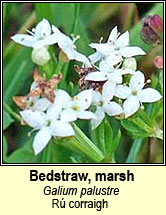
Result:
M30 32L31 35L28 34L16 34L11 37L16 43L19 43L23 46L32 47L34 49L39 49L43 46L48 46L55 44L56 37L54 34L51 34L51 26L48 20L43 19L34 29L34 32Z

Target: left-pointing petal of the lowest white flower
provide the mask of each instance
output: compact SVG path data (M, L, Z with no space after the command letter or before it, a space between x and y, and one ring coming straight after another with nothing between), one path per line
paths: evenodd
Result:
M40 129L45 124L45 113L40 111L24 110L20 112L23 120L31 127Z

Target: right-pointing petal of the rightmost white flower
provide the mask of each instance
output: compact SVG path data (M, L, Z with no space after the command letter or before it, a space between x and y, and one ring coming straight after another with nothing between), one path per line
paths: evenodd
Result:
M161 94L152 88L138 91L138 98L141 102L156 102L162 98Z

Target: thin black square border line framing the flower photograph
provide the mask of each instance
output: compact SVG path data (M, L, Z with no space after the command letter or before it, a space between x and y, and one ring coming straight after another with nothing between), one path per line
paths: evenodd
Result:
M165 1L30 1L31 3L163 3L163 163L151 163L151 164L144 164L144 163L118 163L118 164L108 164L108 163L80 163L80 164L73 164L73 163L37 163L37 164L30 164L30 163L3 163L3 3L29 3L27 1L1 1L1 161L0 166L166 166L165 163Z

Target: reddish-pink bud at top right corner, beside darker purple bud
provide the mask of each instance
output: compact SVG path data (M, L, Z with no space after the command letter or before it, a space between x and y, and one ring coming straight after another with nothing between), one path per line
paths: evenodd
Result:
M159 15L153 15L150 18L149 25L157 34L161 34L163 32L163 21Z

